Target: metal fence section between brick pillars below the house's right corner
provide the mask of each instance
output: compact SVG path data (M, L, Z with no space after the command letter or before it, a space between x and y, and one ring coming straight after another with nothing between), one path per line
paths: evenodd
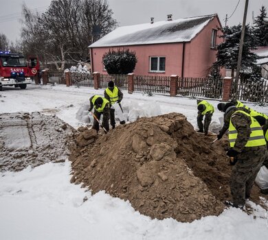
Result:
M190 97L220 98L223 91L223 80L212 80L199 77L179 77L178 95Z

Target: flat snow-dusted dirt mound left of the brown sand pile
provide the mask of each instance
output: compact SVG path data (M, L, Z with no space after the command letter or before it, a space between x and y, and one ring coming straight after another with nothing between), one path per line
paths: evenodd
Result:
M55 115L16 112L0 115L0 171L64 161L76 130Z

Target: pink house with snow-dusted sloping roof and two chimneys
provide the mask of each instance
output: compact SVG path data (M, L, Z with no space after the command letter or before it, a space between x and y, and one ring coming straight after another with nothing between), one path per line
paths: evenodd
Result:
M102 56L109 49L135 51L136 75L205 77L216 61L221 23L217 14L118 27L89 46L91 70L107 74Z

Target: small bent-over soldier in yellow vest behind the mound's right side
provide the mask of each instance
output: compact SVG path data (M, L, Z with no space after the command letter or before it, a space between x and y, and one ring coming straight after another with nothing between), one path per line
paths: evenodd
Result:
M208 101L197 100L197 125L199 127L198 132L205 132L205 135L208 135L208 127L210 126L212 115L214 112L214 107L212 104L209 104ZM203 117L205 115L204 125Z

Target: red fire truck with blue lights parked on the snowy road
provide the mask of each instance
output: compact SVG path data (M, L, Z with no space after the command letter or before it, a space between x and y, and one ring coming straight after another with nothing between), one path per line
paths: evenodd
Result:
M40 69L37 58L27 58L19 53L0 51L0 91L3 86L25 89Z

